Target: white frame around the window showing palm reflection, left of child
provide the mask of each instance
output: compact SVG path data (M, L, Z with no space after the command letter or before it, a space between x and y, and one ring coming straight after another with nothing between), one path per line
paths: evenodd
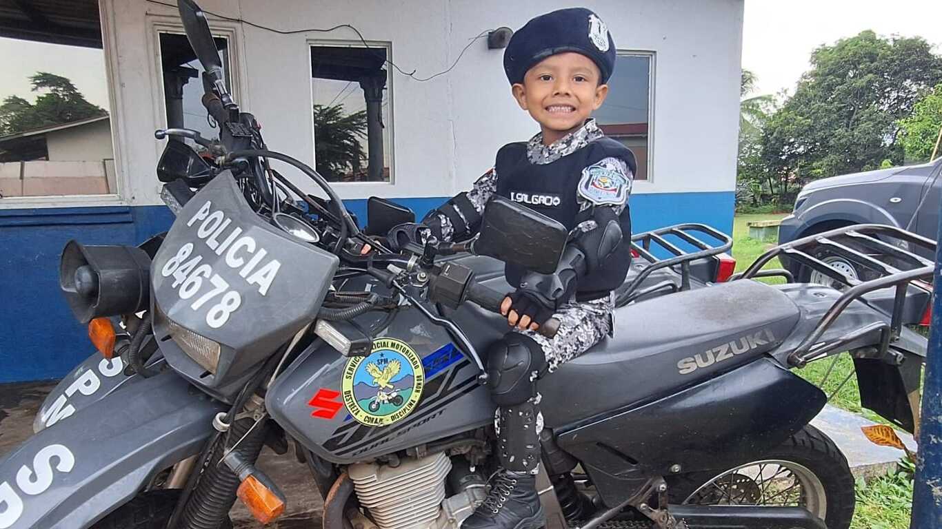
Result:
M364 45L365 43L365 45ZM376 47L384 48L386 50L386 90L387 90L387 100L389 103L386 105L387 110L389 111L389 122L386 123L387 129L389 129L389 181L388 182L331 182L331 186L336 188L338 192L342 193L342 196L347 198L356 196L359 197L360 194L368 193L371 195L378 196L387 196L388 193L396 189L397 185L397 170L396 170L396 113L395 113L395 89L393 88L393 82L395 75L393 75L392 70L390 70L390 65L393 61L393 42L392 40L349 40L349 39L308 39L305 42L307 49L307 70L308 70L308 101L310 102L309 107L314 108L314 80L318 77L314 76L313 65L311 64L311 53L314 46L321 47L336 47L336 48L357 48L357 49L366 49L366 47ZM314 131L314 112L311 112L311 160L313 160L312 167L317 167L317 139ZM367 152L368 156L368 152ZM369 186L377 186L371 188Z

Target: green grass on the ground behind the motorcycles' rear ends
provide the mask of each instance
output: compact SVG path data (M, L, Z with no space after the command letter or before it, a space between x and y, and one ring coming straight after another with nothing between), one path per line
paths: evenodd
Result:
M747 223L759 220L782 218L785 214L738 215L733 222L733 257L736 258L736 271L745 270L755 259L774 246L749 237ZM772 259L763 268L781 268L778 259ZM781 283L779 278L765 279L770 283ZM841 382L850 375L847 382L835 393L830 402L834 406L859 413L874 423L889 425L882 417L860 406L860 391L857 377L853 375L853 359L846 353L837 357L837 362L829 377L824 375L833 359L814 361L795 373L805 380L819 386L827 395L834 393ZM824 384L821 385L821 381ZM907 529L913 502L913 481L905 473L882 476L869 483L858 480L856 484L857 507L853 515L851 529Z

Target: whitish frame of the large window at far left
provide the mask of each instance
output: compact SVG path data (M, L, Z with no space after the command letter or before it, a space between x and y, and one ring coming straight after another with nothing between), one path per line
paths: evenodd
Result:
M95 195L40 195L35 197L7 197L0 200L0 210L129 205L128 190L131 187L129 168L122 148L124 131L121 117L122 95L120 70L118 68L118 46L115 41L113 0L99 0L98 17L102 31L102 53L105 58L105 82L108 92L108 122L111 127L111 152L114 156L115 193Z

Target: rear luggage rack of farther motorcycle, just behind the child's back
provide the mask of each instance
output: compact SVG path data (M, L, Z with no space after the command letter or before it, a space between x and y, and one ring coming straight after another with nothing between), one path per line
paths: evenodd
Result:
M719 246L710 245L695 236L695 234L706 234L709 237L719 241L721 244ZM670 235L673 235L674 237L697 249L690 252L678 247L676 244L665 238L665 236ZM652 252L652 244L670 253L673 255L673 257L669 257L667 259L658 258ZM664 288L670 288L674 291L690 290L690 264L699 259L713 257L727 252L730 248L733 248L732 237L716 230L715 228L711 228L706 224L675 224L674 226L667 226L665 228L659 228L658 230L641 232L633 235L631 237L631 249L633 250L633 253L637 254L638 257L644 259L650 264L644 267L642 271L639 272L637 276L635 276L634 280L619 287L615 291L615 306L621 307L627 303L630 303L634 299L637 299L638 297L642 297L646 294L650 294ZM641 285L644 280L646 280L651 275L652 272L667 267L673 268L677 264L680 265L679 289L673 281L661 281L657 284L647 286L642 290L638 290L639 285Z

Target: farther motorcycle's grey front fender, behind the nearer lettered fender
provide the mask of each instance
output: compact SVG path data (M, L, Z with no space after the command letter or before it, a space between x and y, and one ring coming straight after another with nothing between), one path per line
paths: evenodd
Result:
M148 366L163 362L159 351L147 362ZM46 395L39 412L33 419L33 432L57 424L71 417L75 411L87 408L103 397L127 384L141 380L137 374L126 374L127 362L121 357L111 360L94 353L78 364L68 375L62 377L56 388Z

